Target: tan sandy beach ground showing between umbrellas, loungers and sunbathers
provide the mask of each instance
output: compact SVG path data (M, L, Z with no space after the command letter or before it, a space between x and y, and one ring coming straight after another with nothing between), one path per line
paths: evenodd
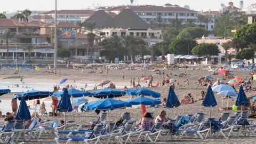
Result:
M26 83L48 83L48 84L57 84L60 79L62 78L68 78L68 81L63 84L63 86L67 84L71 84L74 86L77 86L78 88L80 86L87 84L90 84L94 86L96 83L100 82L102 79L109 79L111 82L113 82L115 85L118 85L118 87L122 88L124 86L130 86L130 80L131 78L135 78L135 83L137 83L138 77L141 77L142 74L145 74L146 76L152 75L154 77L153 85L159 81L162 82L162 76L161 75L156 75L156 72L151 72L149 70L109 70L108 74L103 73L100 74L99 70L95 70L96 73L88 73L90 70L72 70L72 69L60 69L61 74L60 75L54 75L54 74L49 74L49 73L43 73L43 72L36 72L35 71L22 71L19 74L14 75L13 70L0 70L0 73L4 73L4 75L0 75L0 84L5 84L5 83L20 83L20 78L7 78L7 77L14 77L14 76L23 76L23 82ZM41 69L41 71L44 71L44 69ZM172 79L176 79L179 82L179 86L175 85L175 93L178 96L178 99L180 100L183 97L183 94L188 94L191 93L192 96L194 97L195 100L199 99L199 94L201 91L206 91L207 87L198 87L198 77L205 76L205 75L211 75L211 72L209 72L206 69L201 69L197 68L195 70L193 69L176 69L176 70L161 70L165 72L166 74L171 74L170 77ZM179 77L179 73L188 73L187 76L185 77ZM122 78L122 73L125 75L125 80ZM241 76L243 78L249 79L249 71L237 71L235 70L232 73L234 76ZM7 78L7 79L6 79ZM213 76L214 81L217 81L217 78L221 78L221 75L214 75ZM74 83L75 79L75 83ZM187 85L186 80L189 80L189 85ZM228 82L228 81L226 81ZM141 82L140 83L142 86L147 86L147 83ZM53 87L52 85L52 87ZM8 89L9 85L6 85L5 89ZM19 85L22 86L22 85ZM252 87L256 87L256 82L254 81ZM2 87L1 87L2 88ZM15 87L9 87L9 89L14 89ZM32 88L32 87L31 87ZM122 88L123 89L123 88ZM238 86L236 86L236 89L238 89ZM52 91L53 89L49 86L48 91ZM152 90L157 91L161 93L161 100L167 97L169 87L168 86L161 86L161 87L154 87ZM9 101L11 100L13 93L5 94L0 97L2 101ZM255 95L255 92L247 92L246 93L247 97L251 97ZM229 112L231 114L234 114L234 111L223 111L219 110L220 107L222 106L222 100L221 95L215 94L215 98L218 102L218 105L212 108L212 117L218 118L221 113L223 112ZM130 99L130 96L124 96L121 98L121 100L126 100ZM45 101L50 101L51 99L48 98ZM97 100L95 98L89 98L89 102ZM233 98L232 100L229 100L229 106L234 105L236 98ZM227 99L223 100L224 101L224 106L227 106ZM0 109L2 109L3 106L7 105L6 103L3 104L0 103ZM9 105L9 104L8 104ZM11 110L11 103L10 103L10 110ZM155 115L158 115L161 110L166 110L167 116L174 118L175 116L179 115L185 115L185 114L195 114L196 112L203 112L205 113L205 117L210 117L210 108L209 107L203 107L202 106L202 101L197 101L193 104L189 105L181 105L180 107L177 108L147 108L147 111L154 112ZM133 119L140 119L140 109L133 107L129 109L118 109L118 110L112 110L110 111L110 120L112 121L117 121L118 118L121 116L122 113L125 111L131 112L131 117ZM11 111L10 111L11 112ZM98 116L94 113L94 111L91 112L84 112L84 113L75 113L75 121L77 124L86 124L89 123L90 121L93 121L97 118ZM58 119L63 119L63 117L49 117L49 116L42 116L42 119L51 119L51 120L58 120ZM67 120L71 120L72 116L71 114L67 114ZM1 119L2 120L2 119ZM255 123L255 122L253 122ZM33 139L29 142L26 143L55 143L54 142L54 135L53 134L44 134L43 137L39 140ZM239 138L229 138L229 139L224 139L224 138L219 138L219 139L206 139L206 140L201 140L201 139L187 139L183 138L183 140L174 140L174 141L169 141L172 143L253 143L255 142L255 135L251 137L239 137ZM168 143L169 143L168 142Z

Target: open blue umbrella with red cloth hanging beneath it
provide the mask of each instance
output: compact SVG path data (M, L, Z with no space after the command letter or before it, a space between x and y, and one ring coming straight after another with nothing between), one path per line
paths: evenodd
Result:
M132 105L159 105L161 104L161 100L158 99L150 99L146 97L137 97L130 100L126 100L126 102L131 103Z

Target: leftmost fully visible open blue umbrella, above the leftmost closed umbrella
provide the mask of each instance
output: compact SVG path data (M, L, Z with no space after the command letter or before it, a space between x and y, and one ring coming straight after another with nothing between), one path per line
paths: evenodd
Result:
M21 97L24 97L25 100L33 100L33 99L47 98L47 97L50 97L51 95L53 95L53 92L31 90L28 92L23 92L17 95L13 95L13 98L18 98L19 100L21 100Z

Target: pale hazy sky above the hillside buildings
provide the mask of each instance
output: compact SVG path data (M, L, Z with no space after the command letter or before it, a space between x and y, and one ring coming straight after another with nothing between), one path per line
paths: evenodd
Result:
M15 10L53 10L55 0L0 0L0 12L3 11L15 11ZM61 9L87 9L93 5L110 6L110 5L127 5L130 4L130 0L57 0L58 10ZM163 5L165 3L178 4L180 6L189 5L190 9L201 10L219 10L220 4L225 5L230 0L134 0L137 4L153 4ZM231 0L235 6L239 6L239 0ZM256 0L244 0L244 7L256 3Z

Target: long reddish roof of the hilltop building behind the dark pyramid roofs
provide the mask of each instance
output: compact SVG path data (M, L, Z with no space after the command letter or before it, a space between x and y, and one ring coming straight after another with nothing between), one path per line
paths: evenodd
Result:
M185 9L183 7L178 7L178 5L174 5L177 7L164 7L164 6L129 6L130 9L134 12L144 11L144 12L196 12L193 10ZM105 11L122 11L127 6L116 6L111 7L109 9L105 9Z

